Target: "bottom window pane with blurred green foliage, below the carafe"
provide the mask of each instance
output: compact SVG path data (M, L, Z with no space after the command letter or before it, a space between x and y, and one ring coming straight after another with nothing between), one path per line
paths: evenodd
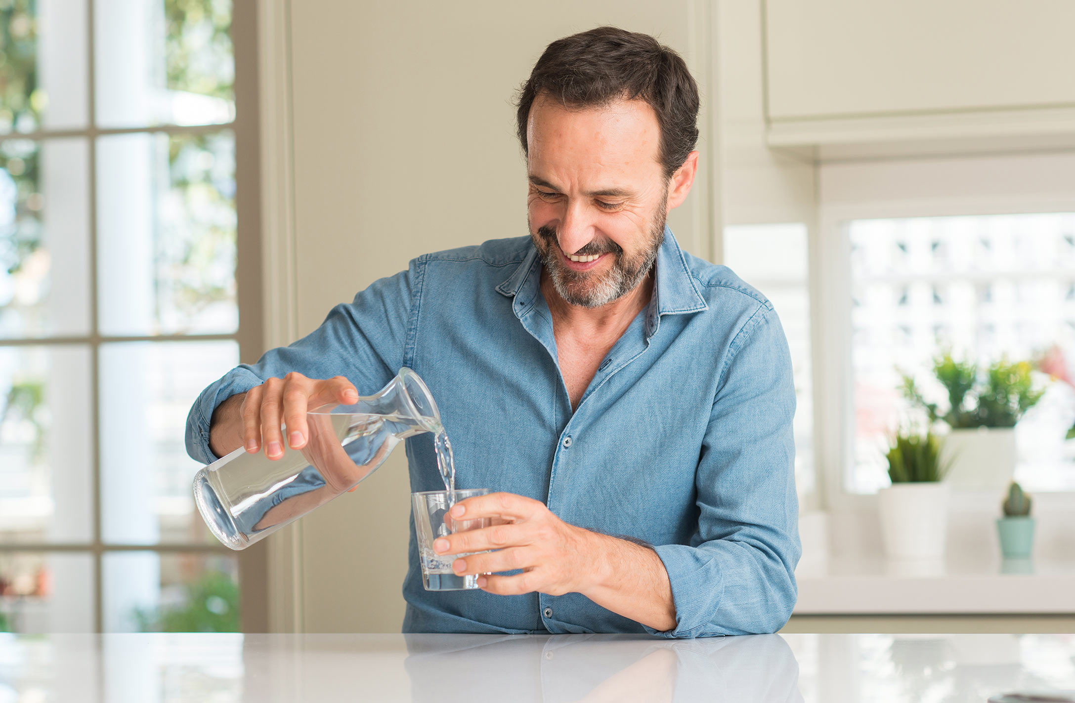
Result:
M104 555L105 632L239 632L239 562L232 555Z

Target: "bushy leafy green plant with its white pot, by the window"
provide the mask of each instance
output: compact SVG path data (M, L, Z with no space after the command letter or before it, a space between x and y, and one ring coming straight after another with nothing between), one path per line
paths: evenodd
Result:
M952 485L995 490L1012 480L1015 425L1044 392L1034 389L1032 369L1028 361L1002 358L979 372L977 364L944 354L933 360L933 375L948 396L944 412L927 402L913 377L902 374L904 396L926 411L931 424L951 428L943 453L951 464Z

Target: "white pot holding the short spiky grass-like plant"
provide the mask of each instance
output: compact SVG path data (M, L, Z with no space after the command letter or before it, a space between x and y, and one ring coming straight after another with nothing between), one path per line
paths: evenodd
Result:
M890 559L940 559L948 532L948 484L894 484L877 491L885 554Z

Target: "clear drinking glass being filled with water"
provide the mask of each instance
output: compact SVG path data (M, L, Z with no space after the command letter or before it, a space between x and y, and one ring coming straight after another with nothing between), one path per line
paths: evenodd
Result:
M488 488L446 491L430 490L411 493L414 510L414 530L418 536L418 560L421 562L421 583L427 591L457 591L477 588L477 575L457 576L452 571L452 562L459 557L469 557L478 551L441 555L433 551L433 540L456 532L465 532L489 527L491 518L457 520L448 511L461 500L474 496L485 496Z

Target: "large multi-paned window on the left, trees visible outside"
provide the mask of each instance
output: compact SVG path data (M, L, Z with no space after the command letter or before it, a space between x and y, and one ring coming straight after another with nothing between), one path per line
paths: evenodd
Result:
M0 2L0 630L238 629L239 562L183 444L260 332L232 14Z

